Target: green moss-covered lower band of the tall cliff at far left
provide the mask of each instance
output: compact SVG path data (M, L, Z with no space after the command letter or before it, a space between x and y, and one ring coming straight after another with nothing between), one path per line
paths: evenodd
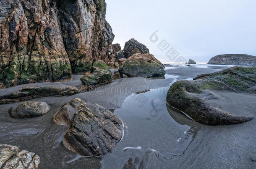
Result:
M55 82L71 80L71 65L69 61L50 60L33 57L28 61L24 57L19 61L14 59L9 66L0 68L0 83L2 88L8 88L28 83Z

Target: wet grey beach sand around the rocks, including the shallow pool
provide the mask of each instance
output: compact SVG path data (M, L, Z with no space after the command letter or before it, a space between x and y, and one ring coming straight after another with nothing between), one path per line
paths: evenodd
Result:
M12 119L8 108L18 103L0 105L0 144L35 152L41 158L39 169L255 168L255 119L245 124L206 126L165 104L166 92L174 81L219 70L176 66L166 71L177 78L123 78L74 96L33 99L51 106L50 112L37 118ZM79 88L80 78L74 75L73 81L64 84ZM234 114L256 116L254 94L216 94L219 99L209 100L212 104L232 110ZM76 97L114 110L125 124L123 140L101 159L81 157L65 149L61 141L66 127L52 124L53 114Z

